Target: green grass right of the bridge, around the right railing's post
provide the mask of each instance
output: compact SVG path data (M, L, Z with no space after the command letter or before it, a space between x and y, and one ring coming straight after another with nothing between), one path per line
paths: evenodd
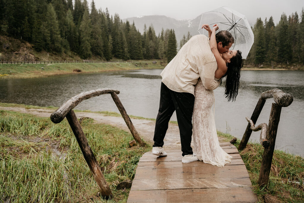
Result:
M218 135L230 141L229 134ZM238 147L240 140L234 144ZM258 202L303 202L304 200L304 158L275 150L272 158L268 185L260 188L259 179L264 148L260 143L249 142L243 151L239 151L250 176Z

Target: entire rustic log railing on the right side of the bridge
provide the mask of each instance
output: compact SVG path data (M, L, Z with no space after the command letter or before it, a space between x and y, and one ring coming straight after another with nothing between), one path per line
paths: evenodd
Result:
M272 103L268 126L266 123L262 123L255 127L254 124L256 123L257 118L261 113L266 99L271 97L273 97L275 103ZM238 150L243 150L246 147L252 131L261 130L260 143L264 147L260 175L258 180L258 184L261 187L267 185L268 183L272 156L275 149L275 138L277 136L278 124L280 121L281 109L282 107L288 107L292 103L292 101L293 97L290 94L284 93L280 89L268 90L261 94L261 97L257 102L257 105L254 109L251 118L249 119L249 117L246 117L248 125L240 142Z

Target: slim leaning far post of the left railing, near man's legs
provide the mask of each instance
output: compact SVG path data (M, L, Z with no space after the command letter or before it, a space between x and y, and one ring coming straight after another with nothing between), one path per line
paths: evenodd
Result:
M121 101L119 100L117 94L115 92L111 93L112 99L115 102L120 114L123 116L123 119L125 120L129 130L131 131L133 138L136 140L136 142L138 142L141 146L144 146L145 144L143 143L143 141L141 140L140 136L138 135L138 132L136 131L136 129L134 128L134 125L129 117L129 115L127 114L125 108L123 107L123 104L121 103Z

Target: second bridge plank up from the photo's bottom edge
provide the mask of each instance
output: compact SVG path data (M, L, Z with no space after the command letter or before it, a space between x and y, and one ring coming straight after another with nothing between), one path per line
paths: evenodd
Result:
M251 186L249 177L135 179L131 190L168 190Z

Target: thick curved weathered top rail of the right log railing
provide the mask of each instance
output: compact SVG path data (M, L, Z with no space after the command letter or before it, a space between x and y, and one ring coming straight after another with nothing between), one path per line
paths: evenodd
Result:
M271 89L261 94L261 98L264 100L271 97L281 107L288 107L293 101L292 95L284 93L281 89Z

